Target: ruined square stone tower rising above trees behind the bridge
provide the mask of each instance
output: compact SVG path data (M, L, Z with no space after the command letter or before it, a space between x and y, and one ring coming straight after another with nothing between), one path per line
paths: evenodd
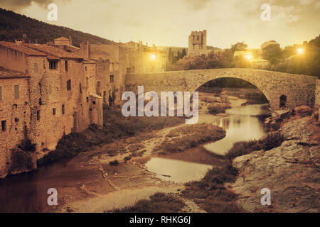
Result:
M207 53L207 31L192 31L189 35L189 56L206 55Z

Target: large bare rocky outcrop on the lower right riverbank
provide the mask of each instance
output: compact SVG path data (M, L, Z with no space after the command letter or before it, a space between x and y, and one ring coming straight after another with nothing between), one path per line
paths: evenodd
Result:
M242 172L229 187L239 194L237 203L245 211L319 212L319 124L310 116L296 118L280 131L285 140L279 147L233 160ZM270 206L260 203L262 188L271 191Z

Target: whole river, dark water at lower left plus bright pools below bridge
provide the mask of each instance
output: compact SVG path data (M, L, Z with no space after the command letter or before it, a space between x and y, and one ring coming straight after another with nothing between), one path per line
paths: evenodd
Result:
M192 148L184 153L151 157L146 163L147 170L171 182L189 182L201 179L206 172L223 161L223 155L239 140L257 139L265 134L262 120L257 115L266 113L265 105L240 106L243 99L232 100L232 109L225 115L213 116L204 111L199 113L198 123L213 123L226 131L223 140L208 143L200 148ZM81 156L81 155L78 155ZM62 160L39 167L26 175L9 176L0 180L0 212L43 212L48 210L46 194L50 187L73 187L83 181L101 178L101 173L92 170L75 171L79 165Z

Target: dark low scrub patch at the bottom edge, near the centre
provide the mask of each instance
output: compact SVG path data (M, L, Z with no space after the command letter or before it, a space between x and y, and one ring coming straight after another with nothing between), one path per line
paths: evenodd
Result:
M133 206L123 209L114 209L114 213L178 213L186 206L182 199L175 196L157 192L150 199L142 199Z

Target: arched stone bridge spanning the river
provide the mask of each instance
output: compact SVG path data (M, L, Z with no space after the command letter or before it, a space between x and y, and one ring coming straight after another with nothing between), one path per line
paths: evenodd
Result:
M287 96L287 109L314 107L317 77L253 69L213 69L126 74L126 90L144 92L194 92L206 82L223 77L244 79L265 94L272 110L278 110L280 96Z

